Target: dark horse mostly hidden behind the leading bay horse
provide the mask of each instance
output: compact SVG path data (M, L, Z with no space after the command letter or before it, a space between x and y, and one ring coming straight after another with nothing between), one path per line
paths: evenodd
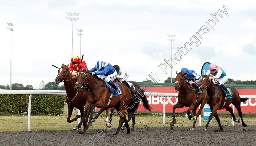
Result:
M119 82L121 83L119 80L115 79L114 81L116 82ZM151 106L148 104L148 100L146 98L146 95L144 94L145 90L144 89L141 89L140 88L140 85L138 85L136 82L133 82L133 81L128 81L130 82L133 87L135 88L135 92L137 93L137 95L139 95L139 98L141 99L142 103L143 103L143 106L145 109L147 109L148 111L151 111ZM138 108L139 106L139 103L136 105L134 105ZM136 111L137 111L137 108L136 108ZM109 118L109 123L111 123L111 117L112 117L112 113L115 109L114 108L111 108L111 113L110 113L110 118ZM104 108L101 108L101 110L98 112L98 114L92 119L92 121L95 121L98 116L104 111ZM127 121L129 123L129 121L132 119L133 121L133 124L132 124L132 131L134 131L134 126L135 126L135 114L134 112L130 112L129 109L127 109L127 112L128 112L128 118L127 118ZM124 123L125 124L125 123ZM123 124L123 127L121 128L121 130L125 130L125 125Z

